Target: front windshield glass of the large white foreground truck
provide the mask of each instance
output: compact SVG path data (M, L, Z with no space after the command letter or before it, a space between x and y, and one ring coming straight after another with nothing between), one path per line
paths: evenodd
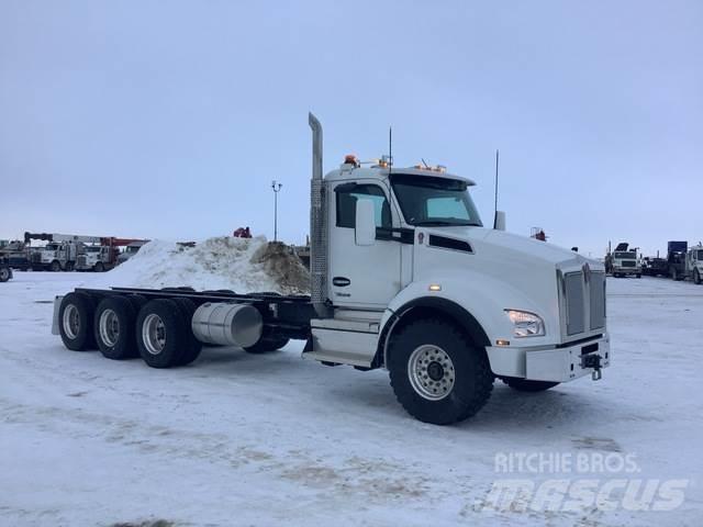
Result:
M391 184L410 225L483 226L465 181L394 173Z

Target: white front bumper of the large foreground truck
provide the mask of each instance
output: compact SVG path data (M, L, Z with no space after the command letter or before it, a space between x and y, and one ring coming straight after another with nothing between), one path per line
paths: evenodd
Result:
M533 381L568 382L588 374L595 379L611 362L607 334L561 347L489 346L486 351L496 377Z

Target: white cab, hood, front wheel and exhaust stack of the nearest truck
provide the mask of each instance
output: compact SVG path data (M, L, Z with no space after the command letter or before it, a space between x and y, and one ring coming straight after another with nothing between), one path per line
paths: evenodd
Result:
M480 407L494 377L537 391L610 365L601 262L486 227L475 182L444 167L361 167L348 156L315 181L321 171L315 157L319 316L303 356L386 367L403 406L437 423ZM453 397L469 403L451 407Z

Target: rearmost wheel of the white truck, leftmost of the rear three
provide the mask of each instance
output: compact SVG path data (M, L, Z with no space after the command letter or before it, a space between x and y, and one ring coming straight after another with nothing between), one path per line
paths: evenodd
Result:
M96 349L92 323L96 304L85 293L68 293L58 309L58 330L64 346L74 351Z

